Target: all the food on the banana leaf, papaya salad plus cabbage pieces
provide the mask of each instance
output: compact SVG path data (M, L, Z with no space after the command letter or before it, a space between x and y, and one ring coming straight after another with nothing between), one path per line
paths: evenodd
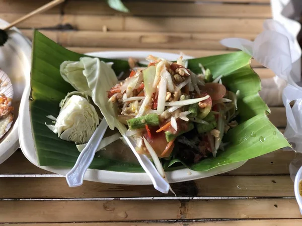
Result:
M222 75L213 79L201 64L201 73L195 74L182 57L177 62L155 56L147 60L147 67L134 68L122 82L110 63L97 58L63 62L62 78L78 91L60 102L59 116L50 117L55 125L48 128L60 139L86 144L99 124L91 96L110 128L134 139L140 154L169 158L174 152L197 163L223 151L223 135L238 125L238 93L226 89ZM105 139L117 140L116 135Z

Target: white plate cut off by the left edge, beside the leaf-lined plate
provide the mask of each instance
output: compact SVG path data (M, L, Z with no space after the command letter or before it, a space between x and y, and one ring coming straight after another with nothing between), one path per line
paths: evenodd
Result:
M9 23L0 19L0 28ZM0 164L19 148L18 110L26 81L30 79L31 42L21 32L13 28L9 32L9 40L0 47L0 68L10 77L14 98L14 125L0 141Z

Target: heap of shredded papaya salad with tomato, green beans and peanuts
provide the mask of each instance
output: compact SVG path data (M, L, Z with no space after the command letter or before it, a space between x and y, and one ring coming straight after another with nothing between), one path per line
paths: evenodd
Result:
M128 78L108 91L126 136L139 154L172 155L197 163L223 151L223 135L236 127L237 95L213 79L201 64L200 74L177 62L148 56L146 68L133 67ZM151 146L151 147L150 147Z

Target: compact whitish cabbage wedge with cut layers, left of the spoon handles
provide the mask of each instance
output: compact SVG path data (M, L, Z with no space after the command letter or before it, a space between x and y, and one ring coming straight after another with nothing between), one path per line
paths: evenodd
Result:
M62 105L55 125L46 125L62 140L75 144L89 141L99 125L95 107L79 95L72 95Z

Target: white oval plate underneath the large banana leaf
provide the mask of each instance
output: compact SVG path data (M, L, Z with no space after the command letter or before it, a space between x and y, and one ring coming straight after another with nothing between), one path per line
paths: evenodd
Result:
M143 51L114 51L114 52L95 52L88 53L87 55L111 58L111 59L128 59L128 57L133 57L136 59L144 59L149 54L154 56L162 57L167 60L175 60L179 57L177 54L171 53L161 53L161 52L143 52ZM186 57L190 58L190 57ZM30 112L29 112L29 94L30 85L26 87L26 93L24 93L21 104L20 104L20 119L19 119L19 137L20 146L24 155L31 161L34 165L40 167L41 169L48 170L53 173L66 175L70 168L57 168L48 166L39 166L37 160L37 154L34 146L34 140L32 136L32 128L30 122ZM214 169L197 172L189 169L180 169L172 172L167 172L167 177L170 183L195 180L204 177L210 177L217 174L225 173L234 170L242 166L246 161L233 163L229 165L219 166ZM94 170L88 169L85 174L85 180L97 181L103 183L114 183L114 184L152 184L146 173L122 173L106 170Z

